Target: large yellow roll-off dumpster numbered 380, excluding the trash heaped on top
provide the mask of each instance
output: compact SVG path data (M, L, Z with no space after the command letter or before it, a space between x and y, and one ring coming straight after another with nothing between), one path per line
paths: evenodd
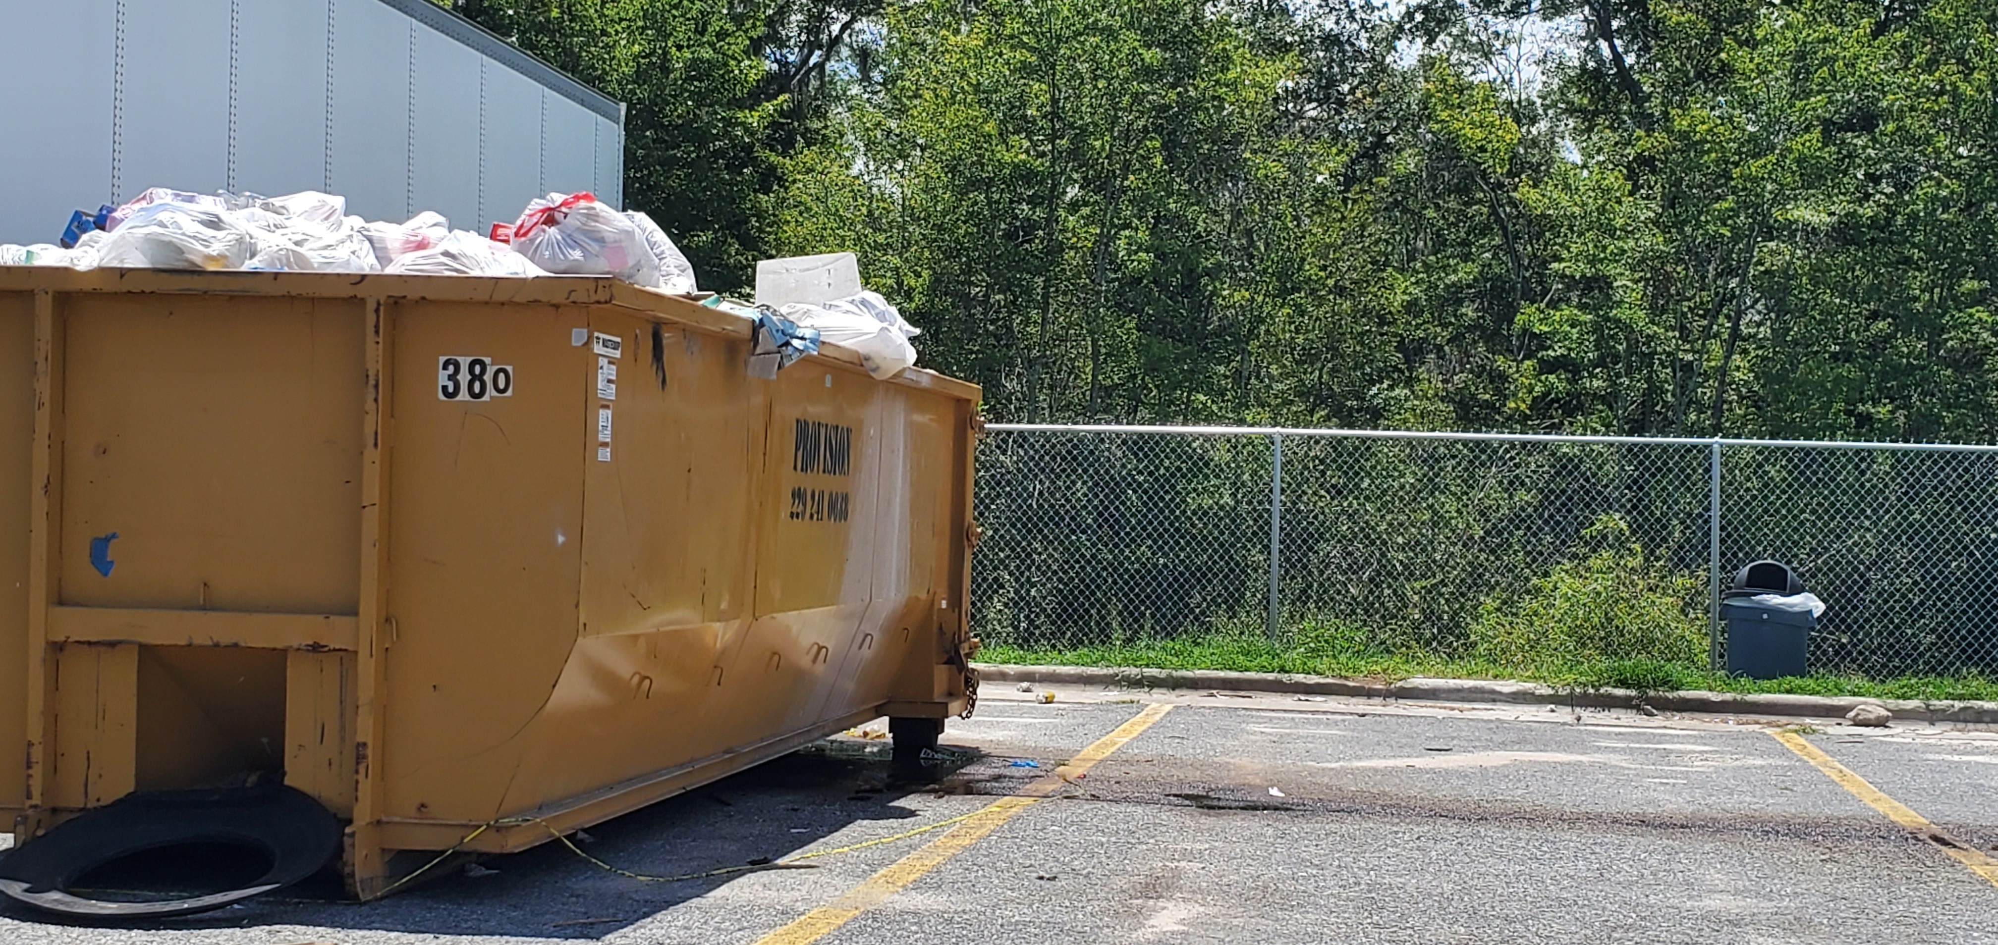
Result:
M0 811L282 781L354 895L967 709L979 390L603 278L0 268ZM54 843L50 843L54 847Z

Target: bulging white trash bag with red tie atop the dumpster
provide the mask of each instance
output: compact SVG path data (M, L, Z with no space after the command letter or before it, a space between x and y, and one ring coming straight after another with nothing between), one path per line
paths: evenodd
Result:
M511 228L496 226L494 236L545 272L659 288L659 260L637 224L589 192L535 200Z

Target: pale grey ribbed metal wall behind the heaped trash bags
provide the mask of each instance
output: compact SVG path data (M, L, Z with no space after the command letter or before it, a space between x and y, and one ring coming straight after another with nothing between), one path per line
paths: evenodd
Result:
M326 190L486 232L623 206L623 108L426 0L0 0L0 242L144 188Z

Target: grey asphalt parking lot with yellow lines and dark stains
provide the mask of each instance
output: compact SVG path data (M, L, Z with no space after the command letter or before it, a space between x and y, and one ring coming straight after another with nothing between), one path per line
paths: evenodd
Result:
M839 737L581 843L661 877L835 851L785 869L657 883L549 843L372 905L8 911L0 941L1998 943L1998 731L1818 725L989 691L935 785Z

